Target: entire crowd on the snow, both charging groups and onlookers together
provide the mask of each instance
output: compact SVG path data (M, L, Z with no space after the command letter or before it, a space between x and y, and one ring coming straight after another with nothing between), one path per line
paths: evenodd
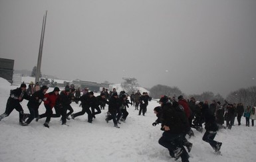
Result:
M140 94L140 91L128 95L125 91L119 94L116 89L112 89L108 93L108 89L103 88L100 95L94 96L94 92L89 91L87 88L74 89L74 86L66 85L64 90L61 91L59 87L55 87L53 91L47 93L49 87L43 85L42 87L32 86L33 82L29 85L22 83L17 89L10 92L9 99L5 112L1 114L0 120L9 116L15 109L19 112L19 124L21 126L28 126L34 119L36 121L45 119L43 124L49 128L51 118L60 118L63 125L66 125L66 120L74 119L77 116L87 114L88 122L92 123L93 118L104 110L108 104L108 112L106 115L106 122L113 121L114 127L120 128L118 124L125 122L128 116L126 108L129 104L138 110L138 115L144 116L147 112L148 101L151 97L148 93ZM37 84L36 84L37 85ZM82 92L82 95L81 95ZM128 100L130 97L130 101ZM23 99L27 100L27 107L29 114L25 114L20 102ZM80 101L82 110L73 113L74 110L70 106L71 102ZM39 106L44 103L45 113L39 114ZM154 108L154 113L157 120L152 123L153 126L161 124L160 130L164 131L158 143L169 150L170 156L175 159L181 157L182 162L189 161L188 152L191 151L193 143L186 139L194 136L192 128L198 132L203 132L203 124L205 125L205 133L203 134L203 141L209 143L214 149L215 153L220 154L221 142L214 140L219 129L231 129L234 125L235 117L237 117L238 126L241 125L241 117L246 119L246 126L254 126L256 119L255 108L256 106L243 106L243 103L237 104L229 103L227 101L221 104L219 101L212 101L208 104L207 101L196 101L193 97L184 99L182 95L176 99L175 97L167 97L166 95L160 98L160 106ZM55 114L53 114L55 108ZM226 125L223 126L224 121Z

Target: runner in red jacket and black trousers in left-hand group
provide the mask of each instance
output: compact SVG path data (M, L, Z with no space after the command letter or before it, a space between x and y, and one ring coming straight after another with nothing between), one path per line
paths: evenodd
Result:
M49 128L49 122L51 120L51 116L53 115L53 106L55 106L55 103L59 97L59 87L55 87L55 89L53 89L53 91L51 93L47 93L45 94L45 108L46 108L46 112L45 114L41 114L39 115L39 118L45 118L47 117L47 119L45 120L45 124L44 126ZM38 121L38 119L37 119Z

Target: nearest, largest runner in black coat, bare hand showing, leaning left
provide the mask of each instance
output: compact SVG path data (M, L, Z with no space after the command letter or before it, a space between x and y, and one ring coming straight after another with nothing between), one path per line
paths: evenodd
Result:
M158 140L160 145L166 147L175 159L182 158L182 162L188 162L189 155L183 146L184 134L186 134L189 123L184 110L178 106L178 102L170 102L167 96L160 99L162 116L160 121L164 133Z

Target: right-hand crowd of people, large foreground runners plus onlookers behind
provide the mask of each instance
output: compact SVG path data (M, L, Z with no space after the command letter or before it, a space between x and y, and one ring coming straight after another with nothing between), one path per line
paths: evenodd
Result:
M160 105L154 108L157 120L152 123L153 126L161 123L160 130L164 131L158 142L169 150L171 157L175 159L181 157L182 162L189 161L188 152L191 151L193 144L188 142L186 135L188 134L189 138L194 136L192 128L203 132L202 124L205 124L206 131L202 140L209 143L219 155L222 143L214 140L219 129L231 129L235 117L238 126L241 125L242 116L246 118L246 126L250 125L250 119L251 126L254 126L256 119L256 106L244 108L241 102L231 104L225 101L221 104L219 101L212 101L208 104L207 101L195 101L193 97L186 100L180 95L178 100L175 97L164 96L160 99ZM225 120L226 126L223 126Z

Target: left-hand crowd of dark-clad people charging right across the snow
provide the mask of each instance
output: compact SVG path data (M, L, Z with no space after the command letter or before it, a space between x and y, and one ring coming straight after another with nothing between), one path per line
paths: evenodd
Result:
M120 121L125 122L128 111L126 108L129 104L135 106L136 110L139 110L139 115L145 115L148 101L151 97L148 93L143 93L142 95L138 91L132 97L132 102L128 100L128 94L125 91L121 91L119 94L114 88L113 91L108 93L108 89L103 88L100 95L94 96L94 92L89 91L88 88L82 90L82 95L80 89L75 89L74 85L66 85L64 90L61 91L59 87L55 87L53 91L47 93L49 87L43 85L39 90L35 90L36 86L33 87L33 82L29 84L29 89L27 85L22 83L17 89L14 89L10 93L10 97L7 101L7 106L5 112L1 114L0 120L9 116L11 112L15 109L19 112L19 124L21 126L28 126L34 119L38 122L42 118L45 119L43 124L45 127L49 128L49 122L51 118L60 118L63 125L66 125L66 120L70 118L74 119L77 116L82 116L85 113L88 116L88 122L92 123L93 118L96 118L97 114L104 110L106 104L108 104L108 113L106 116L106 122L113 120L114 127L120 128L118 124ZM29 108L29 114L25 114L23 107L20 102L23 99L28 100L27 107ZM70 106L71 102L80 101L80 106L82 110L80 112L73 113L74 110ZM45 106L45 113L39 114L39 106L43 102ZM140 109L138 106L140 105ZM55 108L55 114L53 114L53 108Z

